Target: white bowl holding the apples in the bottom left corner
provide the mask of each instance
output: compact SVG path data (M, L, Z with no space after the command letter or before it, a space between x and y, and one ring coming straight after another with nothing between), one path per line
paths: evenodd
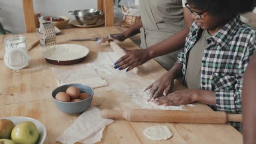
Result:
M15 125L18 125L19 123L26 122L26 121L33 122L36 125L36 127L37 127L37 129L39 131L39 140L37 141L36 144L43 144L43 142L45 141L45 138L46 138L46 128L38 120L32 119L30 117L23 117L23 116L3 117L3 118L0 118L0 119L9 119Z

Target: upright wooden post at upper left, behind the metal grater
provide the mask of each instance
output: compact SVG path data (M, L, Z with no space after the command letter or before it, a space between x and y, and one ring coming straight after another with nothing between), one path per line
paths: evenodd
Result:
M26 33L36 32L33 0L23 0L23 12Z

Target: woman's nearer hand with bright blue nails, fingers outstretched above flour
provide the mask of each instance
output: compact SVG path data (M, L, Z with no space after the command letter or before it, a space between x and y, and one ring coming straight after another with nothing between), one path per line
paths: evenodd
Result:
M126 71L132 70L132 68L137 67L138 65L142 65L145 62L151 59L148 50L127 50L126 55L122 56L115 63L114 68L119 68L119 70L124 70L128 68Z

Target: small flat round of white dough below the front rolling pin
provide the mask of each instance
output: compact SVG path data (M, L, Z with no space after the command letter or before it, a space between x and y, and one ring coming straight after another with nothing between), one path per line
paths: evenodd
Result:
M167 140L173 136L168 126L151 126L143 134L152 140Z

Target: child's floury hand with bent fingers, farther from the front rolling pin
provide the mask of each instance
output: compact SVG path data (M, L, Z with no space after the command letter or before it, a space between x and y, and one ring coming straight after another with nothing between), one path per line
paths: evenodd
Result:
M160 96L166 96L173 89L174 79L171 73L167 72L161 76L158 80L149 85L144 91L149 90L149 96L147 101L150 99L156 99Z

